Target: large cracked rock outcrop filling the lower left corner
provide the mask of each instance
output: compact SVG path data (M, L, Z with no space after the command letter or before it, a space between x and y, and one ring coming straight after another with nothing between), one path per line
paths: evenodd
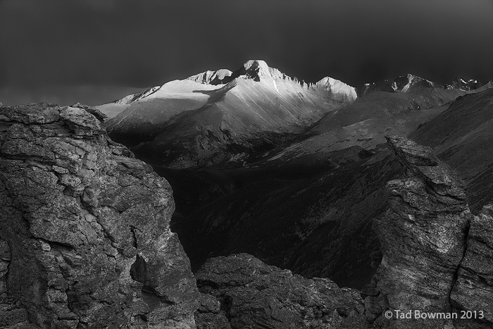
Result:
M0 327L195 328L170 185L75 105L0 108Z

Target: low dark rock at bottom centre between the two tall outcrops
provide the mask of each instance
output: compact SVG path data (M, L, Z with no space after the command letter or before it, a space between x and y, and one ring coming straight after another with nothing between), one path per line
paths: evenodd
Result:
M293 275L249 254L209 259L196 278L204 294L198 328L366 328L358 291ZM230 327L219 324L226 320Z

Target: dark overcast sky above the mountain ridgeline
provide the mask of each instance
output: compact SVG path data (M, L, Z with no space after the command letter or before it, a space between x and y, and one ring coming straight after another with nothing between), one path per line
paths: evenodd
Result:
M103 104L263 59L360 87L493 79L493 0L0 0L0 101Z

